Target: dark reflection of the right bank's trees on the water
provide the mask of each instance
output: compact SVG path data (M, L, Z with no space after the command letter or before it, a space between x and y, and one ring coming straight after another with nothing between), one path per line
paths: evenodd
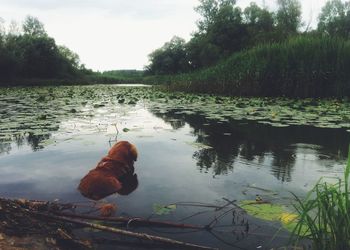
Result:
M347 157L349 136L342 130L300 126L274 128L247 121L215 122L174 110L154 113L171 125L169 121L173 120L181 120L182 126L188 123L197 137L196 142L212 147L196 151L193 157L201 171L210 169L214 175L232 171L236 161L261 166L270 155L271 173L282 182L290 182L299 143L320 145L314 151L319 159L322 155L341 160Z

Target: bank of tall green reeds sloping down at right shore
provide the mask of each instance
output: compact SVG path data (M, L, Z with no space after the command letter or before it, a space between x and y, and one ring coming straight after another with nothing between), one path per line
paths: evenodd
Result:
M190 74L151 76L170 90L243 96L350 96L350 41L300 36L239 52Z

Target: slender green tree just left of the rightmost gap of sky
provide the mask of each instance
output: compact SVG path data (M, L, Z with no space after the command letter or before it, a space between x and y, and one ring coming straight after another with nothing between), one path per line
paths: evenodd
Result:
M277 28L285 35L294 35L302 26L301 4L298 0L277 0Z

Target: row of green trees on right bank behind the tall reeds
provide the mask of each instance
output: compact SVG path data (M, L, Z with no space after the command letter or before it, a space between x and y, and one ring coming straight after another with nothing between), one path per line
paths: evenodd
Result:
M233 54L261 45L285 43L297 36L350 38L350 1L327 1L315 29L302 22L298 0L277 0L274 12L254 2L241 9L235 0L199 0L195 10L201 19L191 39L186 42L174 36L153 51L146 74L194 72L216 65Z

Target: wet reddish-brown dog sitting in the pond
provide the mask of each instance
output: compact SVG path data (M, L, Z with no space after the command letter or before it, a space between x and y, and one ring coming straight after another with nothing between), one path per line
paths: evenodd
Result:
M114 193L131 193L138 185L134 174L136 160L137 150L133 144L127 141L116 143L97 167L81 179L78 187L80 193L92 200L100 200Z

